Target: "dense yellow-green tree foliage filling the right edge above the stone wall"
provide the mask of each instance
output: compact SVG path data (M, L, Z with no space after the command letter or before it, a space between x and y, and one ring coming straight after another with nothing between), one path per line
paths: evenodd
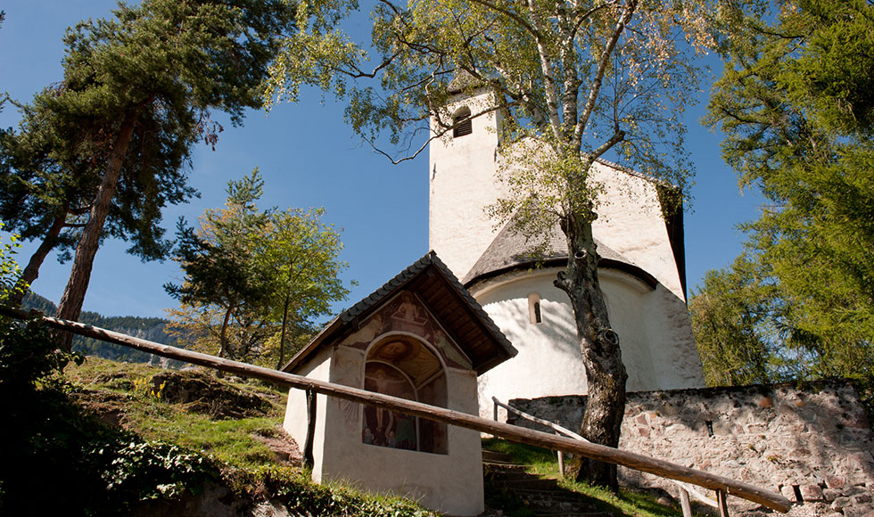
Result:
M841 376L871 382L874 368L874 7L802 0L752 12L727 47L709 121L726 134L723 156L740 185L770 201L742 226L749 262L762 277L702 296L738 310L771 299L766 316L777 373L800 379ZM724 280L743 275L715 274ZM758 285L756 288L755 285ZM697 313L693 310L693 316ZM700 322L695 322L697 329ZM735 320L721 343L741 347L758 332ZM698 337L698 336L697 336Z

